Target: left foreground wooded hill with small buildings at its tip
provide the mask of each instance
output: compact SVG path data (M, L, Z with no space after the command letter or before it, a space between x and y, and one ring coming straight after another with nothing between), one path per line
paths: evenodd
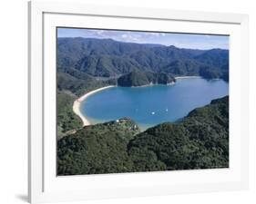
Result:
M131 171L127 144L138 125L128 119L86 126L57 141L58 175Z

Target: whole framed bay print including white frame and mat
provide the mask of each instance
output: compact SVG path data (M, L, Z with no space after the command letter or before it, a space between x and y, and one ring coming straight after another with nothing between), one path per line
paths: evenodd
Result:
M248 16L29 3L31 203L248 188Z

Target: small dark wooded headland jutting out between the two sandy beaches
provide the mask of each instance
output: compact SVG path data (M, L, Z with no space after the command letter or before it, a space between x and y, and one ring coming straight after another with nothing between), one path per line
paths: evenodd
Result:
M133 71L118 78L118 86L142 86L147 84L175 83L175 78L168 73Z

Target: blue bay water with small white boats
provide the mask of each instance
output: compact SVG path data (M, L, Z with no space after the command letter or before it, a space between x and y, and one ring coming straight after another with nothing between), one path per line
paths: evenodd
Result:
M81 104L92 123L128 117L142 130L177 121L190 111L229 94L229 83L200 78L179 79L174 85L113 87L97 92Z

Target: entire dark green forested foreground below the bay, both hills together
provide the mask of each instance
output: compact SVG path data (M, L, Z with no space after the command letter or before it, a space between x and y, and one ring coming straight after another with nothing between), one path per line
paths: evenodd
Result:
M229 97L139 132L131 120L91 125L57 143L58 175L229 167Z

